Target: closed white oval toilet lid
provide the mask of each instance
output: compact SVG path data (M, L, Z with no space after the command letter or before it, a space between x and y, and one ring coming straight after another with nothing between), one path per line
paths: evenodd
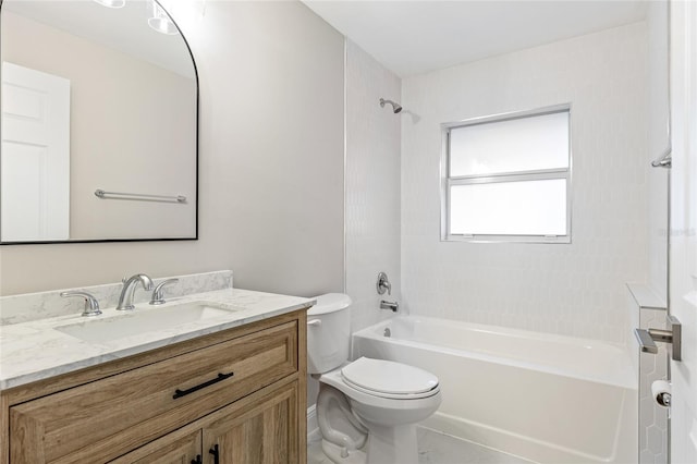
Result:
M369 357L345 366L341 376L347 383L377 393L408 395L426 393L438 387L438 377L424 369Z

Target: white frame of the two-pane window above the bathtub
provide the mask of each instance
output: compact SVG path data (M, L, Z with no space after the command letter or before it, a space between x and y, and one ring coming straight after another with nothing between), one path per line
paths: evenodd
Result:
M567 112L568 113L568 168L541 169L516 172L501 172L496 174L480 175L450 175L450 132L453 129L468 125L487 124L492 122L503 122L522 118L541 117L546 114ZM538 108L527 111L518 111L503 114L492 114L481 118L473 118L464 121L449 122L441 124L442 149L441 149L441 241L444 242L476 242L476 243L571 243L572 234L572 133L571 103L557 105L553 107ZM454 185L472 185L497 182L516 181L538 181L549 179L563 179L566 181L566 234L565 235L524 235L524 234L451 234L450 233L450 191Z

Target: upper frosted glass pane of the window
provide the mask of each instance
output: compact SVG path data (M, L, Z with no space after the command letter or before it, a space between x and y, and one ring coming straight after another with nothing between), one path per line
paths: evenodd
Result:
M568 168L568 111L450 130L450 175Z

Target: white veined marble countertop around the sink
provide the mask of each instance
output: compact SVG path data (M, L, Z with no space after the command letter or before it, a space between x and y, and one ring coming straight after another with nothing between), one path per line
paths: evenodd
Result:
M157 312L186 302L210 302L240 309L220 317L182 323L168 330L149 331L98 343L86 342L56 330L60 327L88 323L91 320L115 321L115 318L132 317L137 312ZM224 289L168 298L161 306L139 303L133 312L125 314L111 307L102 309L102 315L89 318L74 314L0 326L0 390L308 308L314 304L315 300L309 298Z

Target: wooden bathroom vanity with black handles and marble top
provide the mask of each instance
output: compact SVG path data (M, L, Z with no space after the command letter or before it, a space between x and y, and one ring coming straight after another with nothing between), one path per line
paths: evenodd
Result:
M3 326L0 463L305 463L314 302L236 289L201 297L235 310L103 342L56 330L88 325L80 315Z

